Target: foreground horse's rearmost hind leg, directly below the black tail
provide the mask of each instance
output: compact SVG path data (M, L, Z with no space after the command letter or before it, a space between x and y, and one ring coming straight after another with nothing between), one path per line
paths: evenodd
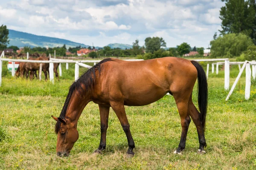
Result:
M203 129L203 125L201 123L200 113L196 109L194 103L192 102L192 94L189 98L189 115L191 116L193 122L195 123L196 129L198 131L198 139L199 139L199 144L200 144L198 152L205 153L204 147L206 147L207 144L206 144L205 137L204 137L204 129Z

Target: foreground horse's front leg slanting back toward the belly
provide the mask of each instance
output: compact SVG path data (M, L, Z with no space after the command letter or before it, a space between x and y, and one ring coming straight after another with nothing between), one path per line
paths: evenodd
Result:
M129 156L134 156L134 152L132 151L135 147L134 140L131 136L131 131L130 131L130 125L125 113L125 107L123 105L124 102L111 102L111 108L113 111L116 113L116 116L118 117L122 128L126 134L127 140L128 140L128 151L126 152Z

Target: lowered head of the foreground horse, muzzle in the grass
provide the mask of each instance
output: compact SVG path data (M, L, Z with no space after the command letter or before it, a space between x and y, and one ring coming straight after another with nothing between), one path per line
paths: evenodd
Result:
M69 156L70 150L79 137L76 124L59 117L52 116L52 118L60 124L60 128L56 131L58 133L56 153L58 156Z

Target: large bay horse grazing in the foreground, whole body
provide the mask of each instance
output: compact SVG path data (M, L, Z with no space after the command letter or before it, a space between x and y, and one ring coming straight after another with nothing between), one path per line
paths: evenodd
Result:
M200 112L192 102L192 91L198 78L198 105ZM205 153L204 138L207 113L207 78L201 65L196 61L177 57L164 57L145 61L123 61L104 59L90 68L74 82L69 89L55 133L57 155L68 156L74 143L79 138L78 119L88 102L99 105L101 122L101 153L106 147L106 132L110 107L116 113L128 139L127 154L134 155L134 140L125 114L124 105L143 106L161 99L170 93L177 104L180 114L182 133L180 144L174 153L181 153L185 148L190 117L198 131L199 153Z

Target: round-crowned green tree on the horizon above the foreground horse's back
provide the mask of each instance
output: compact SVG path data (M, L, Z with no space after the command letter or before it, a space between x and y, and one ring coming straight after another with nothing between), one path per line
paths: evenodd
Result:
M147 53L154 53L154 51L159 50L161 47L166 47L166 42L162 37L147 37L145 39L145 46Z

